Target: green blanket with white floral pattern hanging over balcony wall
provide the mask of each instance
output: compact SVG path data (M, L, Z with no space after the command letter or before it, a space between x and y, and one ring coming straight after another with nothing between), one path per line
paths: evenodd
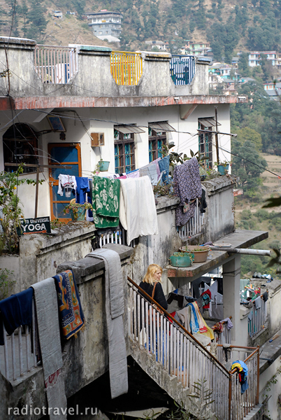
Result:
M94 176L92 198L96 228L117 228L120 211L120 180Z

